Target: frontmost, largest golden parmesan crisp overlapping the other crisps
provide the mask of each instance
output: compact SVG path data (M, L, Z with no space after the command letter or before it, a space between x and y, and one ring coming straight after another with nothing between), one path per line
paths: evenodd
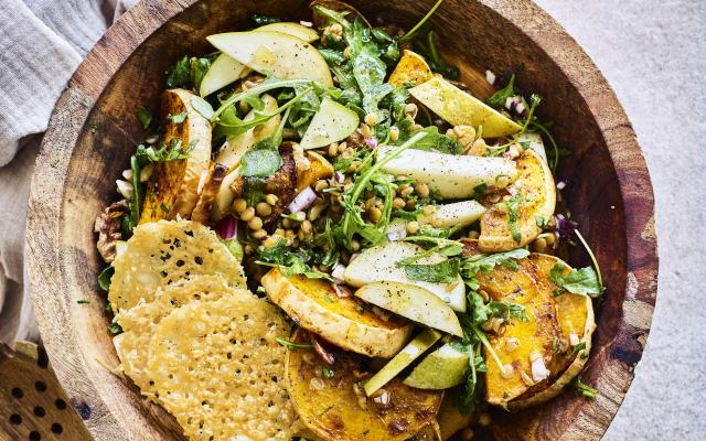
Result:
M255 297L193 301L164 318L147 375L192 440L289 441L300 428L285 385L289 325Z

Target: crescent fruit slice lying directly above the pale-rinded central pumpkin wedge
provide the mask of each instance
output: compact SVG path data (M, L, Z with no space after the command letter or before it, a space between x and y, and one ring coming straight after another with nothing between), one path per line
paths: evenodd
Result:
M453 310L431 291L409 283L368 283L355 295L384 310L435 330L462 336L463 331Z

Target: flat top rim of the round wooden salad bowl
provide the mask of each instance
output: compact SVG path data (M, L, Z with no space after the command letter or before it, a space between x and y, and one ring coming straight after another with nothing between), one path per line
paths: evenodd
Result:
M56 189L64 189L74 146L93 106L113 76L145 40L197 1L161 2L159 14L154 13L152 1L140 1L107 30L78 66L58 99L42 141L32 179L26 252L29 283L40 332L55 373L68 396L97 398L98 407L94 402L94 412L99 418L92 418L86 423L92 434L100 440L128 440L129 437L96 386L88 380L88 363L93 364L94 361L86 361L81 356L81 344L68 311L72 305L57 294L64 277L60 265L62 251L58 247L47 249L51 244L61 244L63 191ZM599 439L608 429L632 381L632 370L642 356L656 300L657 246L649 171L632 125L613 90L588 55L554 19L531 0L479 2L522 30L556 63L586 100L603 136L616 168L622 200L640 201L643 207L649 208L648 213L634 213L625 204L624 213L628 281L624 287L623 320L617 331L617 338L638 338L638 332L642 338L639 353L633 354L630 362L610 358L610 365L607 366L609 372L601 370L601 375L609 377L608 385L616 378L621 381L620 389L610 397L608 420L596 427L596 421L590 418L592 411L606 411L600 407L603 405L599 406L599 398L587 401L586 410L581 409L573 424L593 426L590 430L591 438ZM581 68L578 69L577 66ZM607 349L610 351L614 345L611 342ZM616 373L619 375L616 376ZM570 429L561 434L563 439L587 439L575 437Z

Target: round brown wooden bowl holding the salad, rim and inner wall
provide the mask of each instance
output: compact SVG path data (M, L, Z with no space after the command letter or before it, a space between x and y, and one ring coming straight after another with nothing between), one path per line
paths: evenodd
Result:
M352 3L372 20L410 25L432 1ZM85 422L96 440L174 439L179 429L104 367L118 359L96 284L94 218L145 136L135 111L157 109L164 71L186 53L210 51L206 35L244 29L253 13L300 20L308 8L291 0L140 2L90 51L50 121L29 212L31 291L54 369L72 402L90 410ZM498 411L492 431L506 440L600 439L632 381L656 295L654 202L635 133L588 56L531 1L447 0L434 22L467 74L513 69L523 90L545 97L541 115L573 152L559 172L564 195L608 287L584 374L599 397L567 391L518 415ZM574 262L588 265L580 249L575 254Z

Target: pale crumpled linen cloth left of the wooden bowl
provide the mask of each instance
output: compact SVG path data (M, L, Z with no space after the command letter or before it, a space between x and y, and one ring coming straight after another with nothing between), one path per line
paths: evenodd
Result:
M41 132L83 56L137 0L0 0L0 341L38 340L24 232ZM52 244L46 244L52 246Z

